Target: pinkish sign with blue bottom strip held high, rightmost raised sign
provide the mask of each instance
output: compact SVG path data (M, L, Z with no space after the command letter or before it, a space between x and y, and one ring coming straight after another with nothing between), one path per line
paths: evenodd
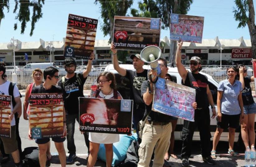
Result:
M202 43L204 17L171 14L170 39Z

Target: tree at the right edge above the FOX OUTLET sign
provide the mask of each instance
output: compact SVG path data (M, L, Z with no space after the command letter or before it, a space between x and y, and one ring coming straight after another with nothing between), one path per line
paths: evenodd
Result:
M249 28L252 44L252 56L256 58L256 27L255 27L255 12L253 0L235 0L236 8L234 8L234 17L236 21L239 21L238 27Z

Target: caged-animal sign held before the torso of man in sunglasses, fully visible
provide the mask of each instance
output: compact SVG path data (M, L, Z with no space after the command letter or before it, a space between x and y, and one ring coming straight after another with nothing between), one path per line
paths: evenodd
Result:
M31 94L29 123L33 139L63 135L62 93Z

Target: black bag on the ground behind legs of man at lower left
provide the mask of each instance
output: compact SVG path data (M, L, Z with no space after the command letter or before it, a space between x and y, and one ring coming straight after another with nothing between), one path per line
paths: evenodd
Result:
M26 167L40 167L39 163L39 148L38 147L27 147L22 152L22 159L24 166ZM50 166L50 161L46 159L46 166Z

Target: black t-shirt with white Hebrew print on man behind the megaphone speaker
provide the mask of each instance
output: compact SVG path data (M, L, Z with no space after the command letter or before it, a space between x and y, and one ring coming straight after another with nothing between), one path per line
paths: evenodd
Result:
M126 78L130 80L131 89L130 89L130 99L134 101L136 105L136 109L144 109L145 103L141 98L141 84L144 81L148 80L148 71L144 70L141 73L137 73L136 71L126 70Z

